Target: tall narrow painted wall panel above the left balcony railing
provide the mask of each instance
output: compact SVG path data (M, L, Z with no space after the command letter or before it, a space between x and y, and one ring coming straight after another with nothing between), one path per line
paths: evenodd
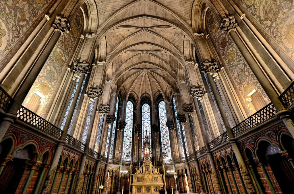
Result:
M74 54L81 31L83 30L83 14L79 9L73 21L71 21L70 33L63 34L57 41L54 49L44 64L38 78L31 87L23 105L26 106L32 94L40 91L46 98L41 117L48 114L61 81Z

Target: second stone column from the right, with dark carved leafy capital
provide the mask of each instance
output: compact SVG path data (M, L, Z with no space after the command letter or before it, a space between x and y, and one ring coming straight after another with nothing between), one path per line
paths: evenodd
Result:
M216 62L205 62L205 63L202 64L202 69L207 74L209 84L211 85L211 89L212 89L213 95L215 97L216 104L218 105L218 109L220 111L221 118L223 119L225 129L226 129L228 137L229 137L230 144L232 145L232 148L234 150L234 153L235 153L236 159L237 159L237 161L239 163L239 166L245 166L245 162L243 160L242 154L241 154L241 152L239 150L239 147L237 146L237 144L235 142L235 138L233 136L233 132L231 130L230 124L229 124L227 116L225 114L225 110L223 109L223 106L222 106L222 104L220 102L220 98L218 96L216 88L214 87L213 80L212 80L211 75L210 75L211 72L218 71L218 65L217 65ZM248 175L247 169L243 168L243 170L244 170L244 173L246 173ZM246 188L248 189L248 193L255 193L252 182L247 181L245 183L246 183Z

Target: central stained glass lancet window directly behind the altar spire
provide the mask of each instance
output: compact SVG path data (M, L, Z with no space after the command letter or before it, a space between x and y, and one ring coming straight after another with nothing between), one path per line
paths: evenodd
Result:
M145 103L142 106L142 157L143 157L143 145L144 145L144 139L145 137L148 137L149 142L150 142L150 157L152 156L151 154L151 122L150 122L150 106Z

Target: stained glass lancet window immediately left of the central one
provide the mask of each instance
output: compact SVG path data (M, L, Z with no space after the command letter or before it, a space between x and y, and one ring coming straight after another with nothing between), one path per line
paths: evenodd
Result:
M127 102L126 127L123 134L123 160L131 161L132 153L132 132L133 132L134 105L131 101Z

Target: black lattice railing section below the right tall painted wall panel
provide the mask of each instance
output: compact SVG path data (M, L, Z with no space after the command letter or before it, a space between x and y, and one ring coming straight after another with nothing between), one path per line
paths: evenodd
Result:
M247 119L240 122L238 125L232 128L234 137L241 135L243 132L255 127L256 125L275 116L276 109L272 103L266 105L264 108L251 115Z

